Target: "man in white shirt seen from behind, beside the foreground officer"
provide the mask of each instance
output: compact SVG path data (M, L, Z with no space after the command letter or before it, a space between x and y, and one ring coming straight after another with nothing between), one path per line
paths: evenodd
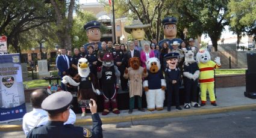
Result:
M41 109L41 104L46 97L48 97L48 92L46 91L46 89L37 89L36 91L31 93L30 100L33 110L23 116L22 122L22 128L26 136L28 132L34 127L37 127L39 125L45 125L48 122L48 112ZM67 119L64 124L75 123L75 113L71 109L69 109L69 112L69 119Z

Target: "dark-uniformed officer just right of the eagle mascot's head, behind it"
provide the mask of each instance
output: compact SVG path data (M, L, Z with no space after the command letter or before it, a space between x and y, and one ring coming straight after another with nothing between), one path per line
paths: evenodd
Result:
M88 53L86 54L86 59L90 63L90 71L97 76L97 64L98 59L95 52L93 52L93 46L87 46Z

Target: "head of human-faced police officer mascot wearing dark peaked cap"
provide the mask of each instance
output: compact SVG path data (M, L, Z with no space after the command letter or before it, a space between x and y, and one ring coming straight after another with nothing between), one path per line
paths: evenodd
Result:
M164 55L164 58L166 59L166 63L169 66L170 69L175 69L176 65L178 63L180 54L173 52L173 53L167 53Z

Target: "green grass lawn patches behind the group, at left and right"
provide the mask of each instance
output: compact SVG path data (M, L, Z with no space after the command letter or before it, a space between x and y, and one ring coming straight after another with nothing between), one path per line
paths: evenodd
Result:
M245 70L246 69L220 69L220 70L216 70L216 75L225 75L225 74L245 74ZM58 76L57 71L52 72L52 74L54 76ZM28 75L29 77L31 77L31 72ZM35 75L36 76L36 75ZM57 81L53 81L53 82L57 82ZM31 80L28 82L23 82L25 85L27 85L27 88L37 88L37 87L43 87L43 86L48 86L49 82L46 80ZM60 83L60 81L59 81Z

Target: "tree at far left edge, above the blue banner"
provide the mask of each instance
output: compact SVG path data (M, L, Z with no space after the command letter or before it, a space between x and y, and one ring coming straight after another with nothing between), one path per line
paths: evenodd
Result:
M8 49L17 53L21 51L19 40L22 33L52 19L51 6L45 1L0 1L0 7L0 34L7 35Z

